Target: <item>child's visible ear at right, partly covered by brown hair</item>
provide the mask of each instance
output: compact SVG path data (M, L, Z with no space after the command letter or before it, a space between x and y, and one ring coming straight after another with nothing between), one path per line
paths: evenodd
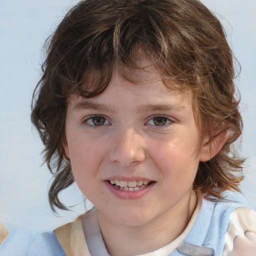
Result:
M230 131L225 129L217 132L211 139L209 137L203 137L199 151L199 160L206 162L214 157L227 141L229 135Z

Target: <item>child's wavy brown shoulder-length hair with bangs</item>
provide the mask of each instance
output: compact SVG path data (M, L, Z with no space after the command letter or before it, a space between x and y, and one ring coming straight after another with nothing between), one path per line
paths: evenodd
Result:
M243 160L232 145L241 134L242 121L239 97L235 98L232 52L219 20L201 2L80 1L46 40L45 48L31 119L54 175L49 189L53 210L66 209L58 193L74 182L63 148L68 96L77 93L89 98L102 93L114 67L132 80L127 70L143 69L141 56L151 61L166 87L192 91L201 134L211 138L215 130L230 130L217 155L199 163L194 189L215 198L221 198L226 189L239 191Z

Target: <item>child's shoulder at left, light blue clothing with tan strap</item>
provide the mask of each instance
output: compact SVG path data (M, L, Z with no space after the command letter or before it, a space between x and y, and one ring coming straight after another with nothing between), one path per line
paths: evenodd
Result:
M5 231L1 232L4 234L2 235L4 241L0 243L0 255L65 256L84 255L84 253L90 255L84 237L82 216L56 228L53 232L34 234L26 229L15 228L7 235L4 229Z

